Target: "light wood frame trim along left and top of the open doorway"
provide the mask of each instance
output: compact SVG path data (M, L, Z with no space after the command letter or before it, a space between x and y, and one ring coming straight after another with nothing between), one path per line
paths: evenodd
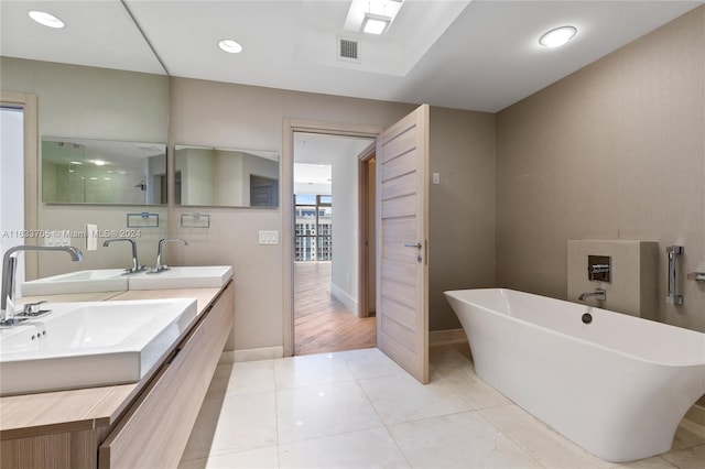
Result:
M343 137L377 139L381 126L336 123L307 119L284 118L282 135L282 343L284 357L294 350L294 132L323 133ZM358 288L359 292L359 288ZM359 296L359 293L358 293Z

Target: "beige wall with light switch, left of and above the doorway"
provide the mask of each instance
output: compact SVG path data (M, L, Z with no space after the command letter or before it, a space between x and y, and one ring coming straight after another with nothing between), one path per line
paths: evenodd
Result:
M187 78L172 78L170 143L274 150L282 154L284 118L389 126L411 105L341 98ZM293 162L283 160L283 165ZM291 172L290 172L291 174ZM288 204L282 194L281 205ZM188 240L178 247L178 264L231 264L236 279L236 350L280 347L284 303L282 207L208 208L212 228L182 229L170 207L170 236ZM260 246L259 230L278 230L278 246ZM174 250L176 252L176 250Z

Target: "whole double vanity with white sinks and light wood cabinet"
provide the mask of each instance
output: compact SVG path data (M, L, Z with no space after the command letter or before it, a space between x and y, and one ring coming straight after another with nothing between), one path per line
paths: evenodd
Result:
M0 330L0 467L178 465L232 329L232 269L121 273L22 285L51 313Z

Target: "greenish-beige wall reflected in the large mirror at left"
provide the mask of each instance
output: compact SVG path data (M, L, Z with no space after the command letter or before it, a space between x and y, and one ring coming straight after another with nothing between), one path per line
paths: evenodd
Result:
M169 81L165 76L0 57L0 85L2 91L37 95L40 138L76 137L166 143ZM86 223L91 222L97 223L100 230L119 232L127 228L129 211L142 210L127 206L40 203L39 228L84 231ZM165 207L153 207L150 211L160 212L164 221ZM137 239L140 263L153 264L156 243L165 233L165 223L160 229L141 230L141 237ZM85 240L74 238L72 244L84 249ZM40 255L39 275L83 269L127 268L131 262L127 246L102 248L98 243L98 251L85 254L84 262L72 262L63 253Z

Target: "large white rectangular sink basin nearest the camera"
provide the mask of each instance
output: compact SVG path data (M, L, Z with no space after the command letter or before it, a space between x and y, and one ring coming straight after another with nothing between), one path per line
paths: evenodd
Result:
M141 380L197 315L196 301L48 303L0 329L0 395Z

